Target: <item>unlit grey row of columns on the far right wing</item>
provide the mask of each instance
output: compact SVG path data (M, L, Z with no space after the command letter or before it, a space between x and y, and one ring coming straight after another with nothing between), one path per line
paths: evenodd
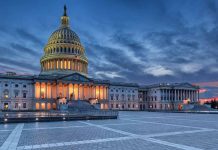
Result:
M198 90L181 90L181 89L162 89L162 97L167 100L187 100L197 101L199 99Z

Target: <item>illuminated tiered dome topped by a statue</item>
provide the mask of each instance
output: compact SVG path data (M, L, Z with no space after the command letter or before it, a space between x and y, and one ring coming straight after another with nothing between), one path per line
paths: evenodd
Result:
M69 17L64 6L61 26L50 36L41 58L41 75L88 73L88 59L78 35L70 29Z

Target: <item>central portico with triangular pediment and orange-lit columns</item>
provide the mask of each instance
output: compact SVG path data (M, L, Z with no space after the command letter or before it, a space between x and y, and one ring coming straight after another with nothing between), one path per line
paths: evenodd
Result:
M95 99L98 103L108 100L107 82L96 82L78 73L56 80L39 79L34 83L36 109L56 109L57 105L70 100ZM101 105L101 108L106 109L108 106Z

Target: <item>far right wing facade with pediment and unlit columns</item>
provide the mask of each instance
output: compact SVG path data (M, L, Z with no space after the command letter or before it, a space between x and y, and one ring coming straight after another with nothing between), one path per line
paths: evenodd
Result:
M199 101L198 88L189 83L143 86L139 90L140 110L182 110L184 104Z

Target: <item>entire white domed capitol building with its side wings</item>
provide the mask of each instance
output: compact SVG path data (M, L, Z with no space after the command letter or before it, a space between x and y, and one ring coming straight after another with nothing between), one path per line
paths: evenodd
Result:
M189 83L136 83L98 80L88 75L88 58L70 28L66 7L61 25L44 47L39 75L0 74L1 110L60 110L69 101L87 101L99 109L178 110L197 102L199 87Z

